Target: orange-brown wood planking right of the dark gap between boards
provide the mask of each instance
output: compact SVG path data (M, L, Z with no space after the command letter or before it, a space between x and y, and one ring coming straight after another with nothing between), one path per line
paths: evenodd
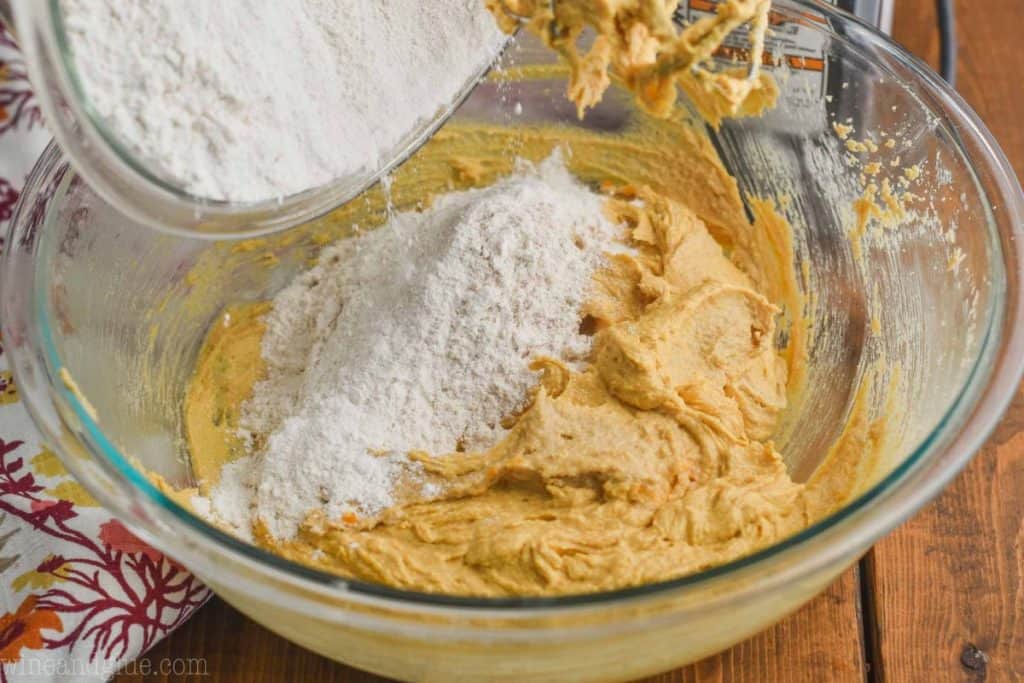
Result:
M898 0L894 33L937 62L934 3ZM956 2L957 90L1024 176L1024 2ZM879 680L1024 680L1024 395L932 505L863 562Z

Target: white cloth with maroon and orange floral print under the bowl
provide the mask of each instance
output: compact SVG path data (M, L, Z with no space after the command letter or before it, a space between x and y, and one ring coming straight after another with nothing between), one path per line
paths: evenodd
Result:
M49 138L0 26L0 236ZM98 507L46 447L0 340L0 683L105 680L207 597L195 577Z

